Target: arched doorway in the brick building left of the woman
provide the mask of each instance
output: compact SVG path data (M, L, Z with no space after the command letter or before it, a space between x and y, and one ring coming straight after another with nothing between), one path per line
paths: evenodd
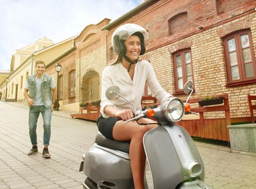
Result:
M98 100L99 91L99 74L93 69L87 70L82 78L80 102Z

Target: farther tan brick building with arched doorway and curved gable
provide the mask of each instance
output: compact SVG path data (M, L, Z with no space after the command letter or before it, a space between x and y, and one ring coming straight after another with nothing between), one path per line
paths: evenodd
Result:
M72 48L47 65L47 74L55 76L54 66L62 65L60 109L79 111L79 103L100 99L100 77L106 66L106 31L101 28L109 23L110 19L105 18L98 24L86 26L74 38Z

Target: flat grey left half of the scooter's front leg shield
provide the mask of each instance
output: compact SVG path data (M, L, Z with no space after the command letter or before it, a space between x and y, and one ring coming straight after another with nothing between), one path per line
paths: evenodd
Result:
M160 126L147 132L143 141L154 188L175 188L183 181L183 173L169 133Z

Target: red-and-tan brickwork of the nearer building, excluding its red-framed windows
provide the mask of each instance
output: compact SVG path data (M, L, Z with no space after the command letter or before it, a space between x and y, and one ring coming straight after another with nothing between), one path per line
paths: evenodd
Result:
M146 53L151 55L150 63L165 90L175 92L172 53L190 48L195 82L192 98L228 93L231 117L249 116L246 95L255 94L256 85L226 87L222 37L237 30L251 29L256 55L255 4L256 1L249 0L158 1L109 28L107 50L111 48L111 35L119 25L142 25L150 34ZM198 29L199 26L203 27L202 30ZM223 112L206 115L223 116Z

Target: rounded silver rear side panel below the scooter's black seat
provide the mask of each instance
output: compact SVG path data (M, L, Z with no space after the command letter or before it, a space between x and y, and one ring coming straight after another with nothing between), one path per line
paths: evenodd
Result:
M92 146L85 154L83 171L95 183L98 183L99 180L107 180L115 184L126 183L126 186L118 187L116 185L113 188L132 188L129 185L127 186L127 183L133 184L130 160L95 146Z

